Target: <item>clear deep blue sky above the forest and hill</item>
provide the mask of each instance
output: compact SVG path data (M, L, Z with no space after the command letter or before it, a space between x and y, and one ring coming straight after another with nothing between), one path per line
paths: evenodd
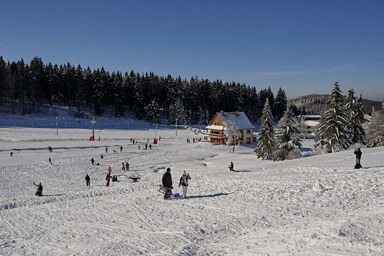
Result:
M384 100L384 1L2 1L0 54Z

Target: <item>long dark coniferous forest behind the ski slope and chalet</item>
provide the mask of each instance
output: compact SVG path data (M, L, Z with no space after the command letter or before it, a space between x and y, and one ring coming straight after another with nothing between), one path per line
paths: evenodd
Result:
M234 81L197 76L187 80L151 71L110 73L104 67L91 70L69 62L44 63L38 56L29 63L23 59L5 62L0 57L0 103L14 114L40 114L47 104L68 106L79 118L83 116L81 109L87 106L96 116L158 120L157 114L161 114L171 123L177 118L180 125L207 124L221 110L244 111L257 122L267 98L273 116L281 118L287 104L281 88L275 97L270 87L257 90Z

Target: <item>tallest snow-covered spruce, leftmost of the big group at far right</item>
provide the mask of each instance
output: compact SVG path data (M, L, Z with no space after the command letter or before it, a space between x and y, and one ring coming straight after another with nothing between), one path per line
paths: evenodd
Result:
M349 120L337 79L333 86L328 99L328 108L321 116L315 130L314 147L322 146L327 153L348 149L352 143Z

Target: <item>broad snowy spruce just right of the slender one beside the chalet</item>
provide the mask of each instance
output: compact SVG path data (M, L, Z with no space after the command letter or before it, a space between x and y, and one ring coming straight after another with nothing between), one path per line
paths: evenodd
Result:
M297 121L293 115L290 106L287 106L283 117L277 124L275 130L275 146L273 147L273 161L283 161L287 159L288 154L295 146L301 148L302 140L298 138L300 131L298 130Z

